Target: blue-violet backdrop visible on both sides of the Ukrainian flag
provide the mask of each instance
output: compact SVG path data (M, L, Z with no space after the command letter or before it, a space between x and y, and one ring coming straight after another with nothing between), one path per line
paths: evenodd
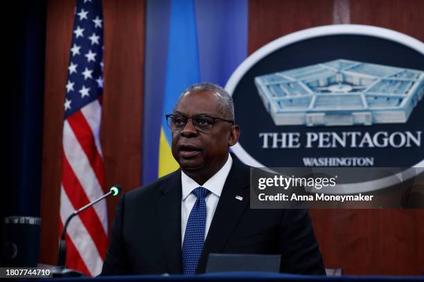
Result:
M247 57L247 0L195 1L200 81L225 86ZM157 179L170 0L147 0L142 185Z

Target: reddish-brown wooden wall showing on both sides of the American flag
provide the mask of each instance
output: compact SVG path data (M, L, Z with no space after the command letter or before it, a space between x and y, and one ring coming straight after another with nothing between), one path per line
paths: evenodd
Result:
M58 255L64 86L74 7L75 1L48 1L39 261L49 264L55 264ZM103 1L105 88L100 143L106 185L121 184L123 191L138 187L141 178L144 12L144 0ZM109 223L116 201L111 198L107 203Z

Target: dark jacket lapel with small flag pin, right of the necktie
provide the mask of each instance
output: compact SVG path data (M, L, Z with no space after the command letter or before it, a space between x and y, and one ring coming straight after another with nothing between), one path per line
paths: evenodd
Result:
M220 253L249 205L250 169L235 156L206 236L196 273L204 273L209 253ZM236 196L241 196L238 200Z

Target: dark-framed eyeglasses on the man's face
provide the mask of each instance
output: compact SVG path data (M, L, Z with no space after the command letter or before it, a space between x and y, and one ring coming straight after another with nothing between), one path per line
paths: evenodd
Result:
M215 122L223 121L234 124L233 120L224 120L209 115L196 115L193 118L187 118L184 115L166 115L166 123L171 130L180 131L184 129L188 120L192 120L193 126L198 131L211 131Z

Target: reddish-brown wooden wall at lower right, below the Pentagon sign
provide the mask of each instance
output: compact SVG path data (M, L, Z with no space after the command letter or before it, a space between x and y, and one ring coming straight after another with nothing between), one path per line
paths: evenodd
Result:
M345 274L423 273L423 210L313 209L310 215L326 267Z

